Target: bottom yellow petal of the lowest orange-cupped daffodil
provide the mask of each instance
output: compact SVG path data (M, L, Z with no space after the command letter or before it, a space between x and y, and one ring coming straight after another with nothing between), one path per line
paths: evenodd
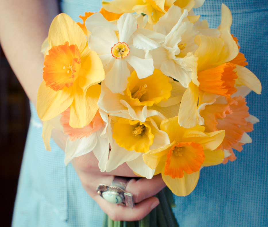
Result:
M162 172L162 178L175 195L186 196L189 195L196 187L199 179L199 171L192 174L184 173L182 178L175 179L172 179L170 176L167 176Z

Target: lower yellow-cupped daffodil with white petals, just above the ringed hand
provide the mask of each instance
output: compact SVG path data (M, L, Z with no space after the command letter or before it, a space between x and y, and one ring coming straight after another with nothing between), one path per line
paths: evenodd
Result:
M106 171L110 172L126 162L135 173L152 178L155 170L144 163L142 154L170 143L167 133L159 130L163 118L152 116L145 122L115 116L111 119L113 138Z

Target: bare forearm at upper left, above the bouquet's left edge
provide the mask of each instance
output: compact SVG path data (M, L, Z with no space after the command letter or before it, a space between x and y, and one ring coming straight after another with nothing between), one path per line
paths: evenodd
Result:
M0 42L29 99L43 80L41 45L59 9L56 0L0 0Z

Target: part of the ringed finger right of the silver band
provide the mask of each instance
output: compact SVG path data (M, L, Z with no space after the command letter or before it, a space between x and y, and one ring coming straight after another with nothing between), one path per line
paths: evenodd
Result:
M139 180L131 179L127 186L126 192L134 197L134 203L152 197L159 193L166 186L161 174L153 176L152 179L140 178Z

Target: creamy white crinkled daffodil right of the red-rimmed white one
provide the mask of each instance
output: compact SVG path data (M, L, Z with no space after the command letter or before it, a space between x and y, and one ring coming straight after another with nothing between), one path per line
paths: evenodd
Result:
M172 5L153 26L155 32L166 36L165 41L161 47L146 54L146 57L153 58L155 68L178 80L184 87L188 87L193 74L197 74L197 57L193 53L198 45L194 38L200 34L187 16L186 9L182 13L180 7Z

